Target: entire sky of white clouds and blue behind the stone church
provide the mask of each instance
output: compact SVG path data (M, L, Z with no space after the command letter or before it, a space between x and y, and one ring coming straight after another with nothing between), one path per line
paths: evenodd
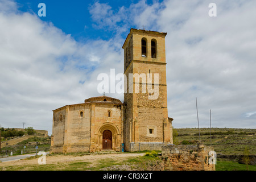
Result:
M46 16L39 16L39 3ZM209 16L209 3L217 16ZM167 32L168 116L176 128L256 128L256 1L0 0L0 125L52 133L52 110L123 72L130 28ZM123 94L106 94L123 101Z

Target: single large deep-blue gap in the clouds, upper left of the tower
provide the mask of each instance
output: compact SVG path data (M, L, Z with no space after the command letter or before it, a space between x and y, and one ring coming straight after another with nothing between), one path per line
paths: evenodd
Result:
M19 10L37 14L40 2L42 1L18 1L21 6ZM72 34L76 40L104 38L102 34L105 34L105 39L109 38L105 31L92 29L93 21L89 13L89 6L92 2L44 1L44 3L47 6L47 16L42 16L40 19L52 22L54 26L60 28L66 34Z

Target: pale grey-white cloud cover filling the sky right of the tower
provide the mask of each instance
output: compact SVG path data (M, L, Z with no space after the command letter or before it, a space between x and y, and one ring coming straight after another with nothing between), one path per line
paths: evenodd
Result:
M256 14L250 8L255 2L215 3L216 18L208 16L209 3L201 1L185 2L189 6L168 1L159 18L159 29L168 32L170 116L174 117L176 127L196 127L197 97L203 126L209 126L209 109L212 109L214 127L255 128L255 121L243 117L243 113L255 107L256 98L253 94L256 24L252 23ZM177 23L176 16L183 17L184 21ZM191 85L197 89L191 90Z

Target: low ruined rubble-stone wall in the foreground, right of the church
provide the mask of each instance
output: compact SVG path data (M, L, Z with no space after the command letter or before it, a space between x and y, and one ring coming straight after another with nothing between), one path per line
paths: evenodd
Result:
M167 145L162 147L162 160L166 171L215 171L209 164L212 147L197 145Z

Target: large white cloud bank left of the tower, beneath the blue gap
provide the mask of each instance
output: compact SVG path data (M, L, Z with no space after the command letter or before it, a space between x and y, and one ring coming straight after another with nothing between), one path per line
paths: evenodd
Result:
M15 5L15 3L13 3ZM30 13L0 11L0 115L3 127L45 129L52 110L96 94L97 75L122 59L112 40L76 42ZM18 13L17 13L18 12Z

